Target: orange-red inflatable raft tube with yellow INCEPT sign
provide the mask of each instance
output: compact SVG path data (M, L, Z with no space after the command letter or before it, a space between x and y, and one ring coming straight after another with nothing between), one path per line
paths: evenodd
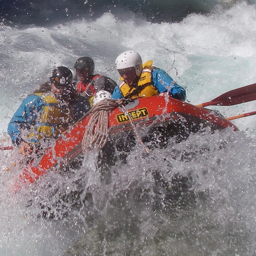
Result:
M164 124L182 123L184 127L205 127L224 129L231 127L237 131L235 125L218 113L184 103L176 99L167 100L163 96L151 96L136 99L125 106L134 125L160 126ZM109 113L109 135L133 129L131 121L122 108L116 108ZM80 119L73 127L66 131L55 145L48 148L38 159L33 160L23 170L20 178L23 182L34 182L49 170L61 167L81 153L81 142L90 115ZM193 131L193 129L191 130Z

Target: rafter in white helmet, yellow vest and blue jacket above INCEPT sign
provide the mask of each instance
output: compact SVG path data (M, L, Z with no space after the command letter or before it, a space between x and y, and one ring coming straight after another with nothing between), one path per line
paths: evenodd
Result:
M149 97L164 95L181 101L186 100L186 91L162 69L152 67L153 61L143 64L138 52L128 50L116 58L116 69L121 76L121 84L116 86L112 99Z

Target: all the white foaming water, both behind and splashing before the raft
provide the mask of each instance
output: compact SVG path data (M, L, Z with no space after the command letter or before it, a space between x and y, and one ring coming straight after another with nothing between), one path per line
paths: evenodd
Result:
M73 68L81 56L93 58L96 73L118 81L115 58L134 49L186 88L187 101L195 105L255 83L256 7L239 2L178 23L151 23L119 10L52 26L4 24L0 46L0 131L3 145L10 145L7 125L22 99L52 69ZM255 111L256 103L209 108L228 117ZM95 157L87 156L76 172L50 173L13 194L9 188L20 170L12 163L19 156L0 152L0 256L57 256L69 246L70 255L254 255L255 118L234 120L240 130L235 133L205 131L179 144L171 139L148 157L138 145L127 163L111 167L108 184L101 182ZM157 208L155 197L163 204L164 191L156 193L154 171L166 180L175 173L191 177L195 202ZM82 188L94 204L86 192L78 208L58 201L59 192Z

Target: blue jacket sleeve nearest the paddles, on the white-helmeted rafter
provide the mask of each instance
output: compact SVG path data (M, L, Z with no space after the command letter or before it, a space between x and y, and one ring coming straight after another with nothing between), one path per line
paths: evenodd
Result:
M155 68L152 71L152 80L154 87L156 87L160 93L169 91L169 95L172 98L179 99L181 101L186 100L185 89L176 84L175 81L164 70Z

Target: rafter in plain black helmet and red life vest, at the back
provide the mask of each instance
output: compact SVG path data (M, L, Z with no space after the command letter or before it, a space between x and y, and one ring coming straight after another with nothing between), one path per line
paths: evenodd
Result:
M93 105L93 97L97 92L104 90L113 93L116 82L106 76L94 75L95 64L92 58L79 58L74 68L80 80L77 89L80 95L89 102L90 106Z

